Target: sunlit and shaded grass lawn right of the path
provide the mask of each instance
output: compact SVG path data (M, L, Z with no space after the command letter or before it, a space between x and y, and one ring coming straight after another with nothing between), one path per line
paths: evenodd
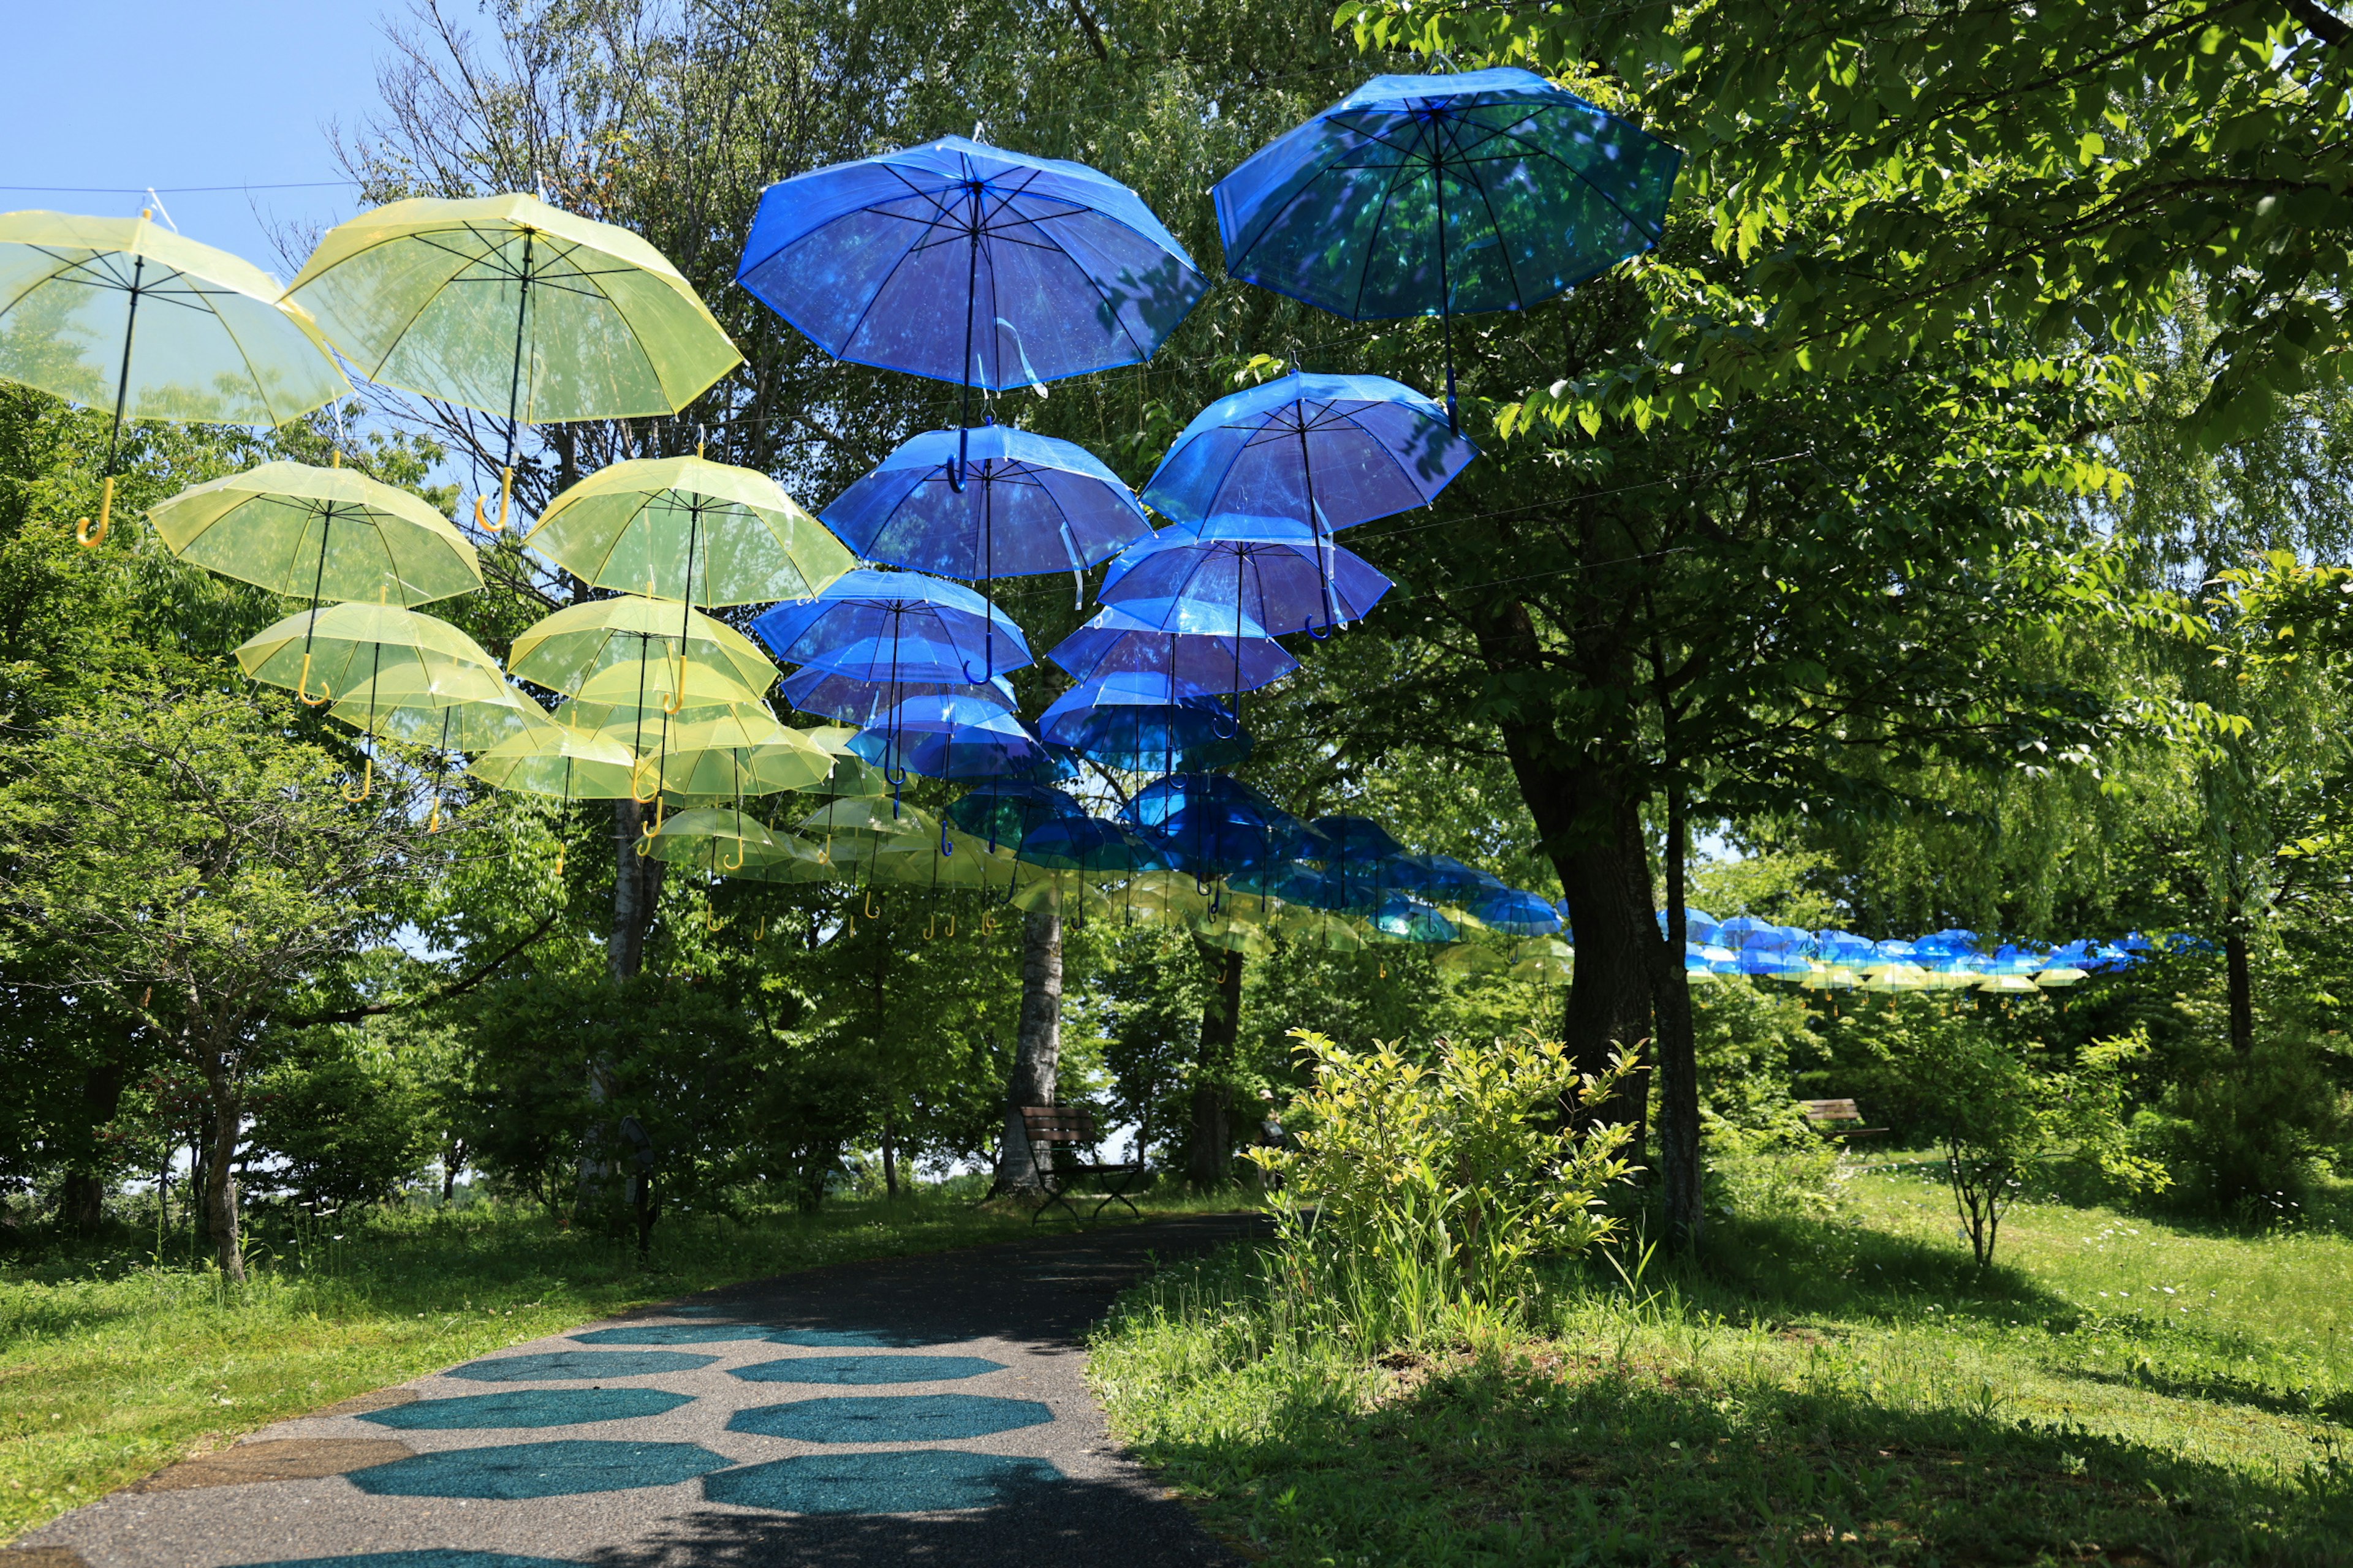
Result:
M2353 1241L2019 1206L1979 1274L1918 1166L1565 1267L1369 1354L1226 1253L1094 1345L1115 1429L1247 1556L2348 1563Z

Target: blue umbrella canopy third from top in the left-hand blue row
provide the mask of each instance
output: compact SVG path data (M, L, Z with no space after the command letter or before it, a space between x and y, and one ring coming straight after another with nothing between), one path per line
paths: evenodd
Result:
M981 595L920 571L861 567L805 602L772 607L751 623L788 665L816 665L856 679L986 684L1028 658L1021 628ZM998 639L1016 658L998 661ZM986 675L974 675L979 663Z

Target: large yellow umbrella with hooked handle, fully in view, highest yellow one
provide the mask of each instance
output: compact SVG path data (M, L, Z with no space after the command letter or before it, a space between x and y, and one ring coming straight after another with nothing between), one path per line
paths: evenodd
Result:
M744 362L661 252L529 195L414 197L329 228L287 287L360 374L518 425L675 414Z

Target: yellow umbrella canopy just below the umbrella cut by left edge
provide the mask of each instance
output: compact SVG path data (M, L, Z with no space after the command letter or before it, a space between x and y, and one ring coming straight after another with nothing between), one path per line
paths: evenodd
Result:
M179 559L296 599L407 607L482 585L447 517L348 468L261 463L179 491L148 522Z

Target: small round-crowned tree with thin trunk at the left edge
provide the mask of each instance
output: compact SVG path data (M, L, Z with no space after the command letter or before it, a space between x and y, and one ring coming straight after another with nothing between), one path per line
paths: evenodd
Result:
M136 1018L205 1079L202 1206L235 1281L231 1168L268 1023L388 938L449 842L428 837L421 780L379 769L346 799L344 764L299 726L278 693L125 679L0 741L0 940L19 973Z

